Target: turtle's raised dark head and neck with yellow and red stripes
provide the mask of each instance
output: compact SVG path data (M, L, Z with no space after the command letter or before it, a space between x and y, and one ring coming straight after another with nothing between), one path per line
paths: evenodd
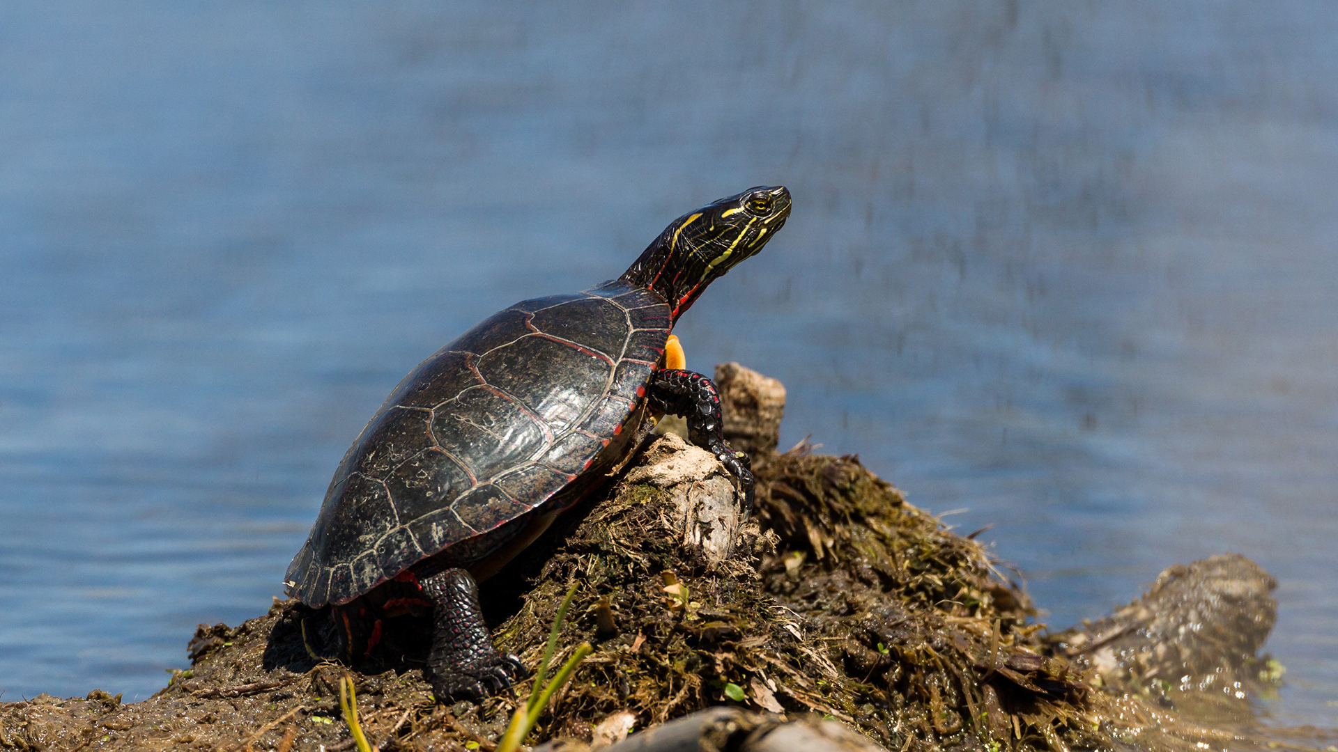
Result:
M756 254L789 217L789 191L759 186L674 219L622 281L660 293L677 322L713 280Z

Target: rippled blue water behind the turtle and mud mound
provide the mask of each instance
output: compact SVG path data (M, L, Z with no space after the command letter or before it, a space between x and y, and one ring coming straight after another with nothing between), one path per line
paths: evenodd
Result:
M1338 8L0 5L0 689L261 613L385 393L748 186L678 328L1066 626L1231 550L1338 725ZM967 511L957 511L966 508Z

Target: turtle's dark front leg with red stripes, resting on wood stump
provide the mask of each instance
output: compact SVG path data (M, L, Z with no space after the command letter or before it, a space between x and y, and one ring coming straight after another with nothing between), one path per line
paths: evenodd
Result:
M654 409L685 417L688 440L716 455L725 470L739 479L744 492L744 519L748 519L753 503L752 459L725 442L725 421L720 416L720 392L714 381L682 368L656 371L646 397Z

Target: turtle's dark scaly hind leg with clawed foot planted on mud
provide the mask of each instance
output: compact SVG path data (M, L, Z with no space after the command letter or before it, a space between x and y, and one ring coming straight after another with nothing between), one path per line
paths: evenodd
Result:
M427 657L432 692L439 702L480 700L529 673L520 658L499 653L483 624L479 586L463 569L419 578L432 602L432 649Z

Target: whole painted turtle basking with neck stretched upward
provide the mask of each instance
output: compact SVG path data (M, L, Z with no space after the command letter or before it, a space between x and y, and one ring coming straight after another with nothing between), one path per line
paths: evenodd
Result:
M306 606L332 606L340 660L369 656L381 618L413 612L431 618L439 700L524 674L492 646L476 581L617 467L649 412L685 416L751 507L748 456L721 435L714 384L664 357L706 285L788 215L784 187L716 201L665 227L622 277L518 302L405 376L344 455L285 577Z

